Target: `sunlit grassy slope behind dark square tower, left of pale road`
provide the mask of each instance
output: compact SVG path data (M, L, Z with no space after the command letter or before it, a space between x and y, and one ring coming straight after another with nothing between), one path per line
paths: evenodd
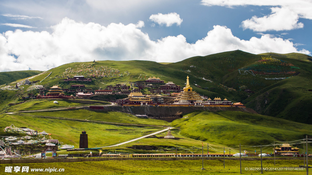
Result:
M18 135L18 133L4 132L6 126L14 124L16 127L28 127L33 130L51 133L53 139L64 144L79 147L79 135L85 130L88 134L89 147L108 146L150 134L160 128L144 128L98 124L92 122L69 121L60 119L39 118L32 116L0 114L0 135Z

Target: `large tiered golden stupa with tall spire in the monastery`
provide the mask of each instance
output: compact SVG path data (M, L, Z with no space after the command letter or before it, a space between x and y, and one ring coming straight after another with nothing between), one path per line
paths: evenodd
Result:
M174 104L201 104L202 97L198 95L197 92L193 91L193 88L190 86L188 77L186 80L186 86L183 88L183 91L174 99Z

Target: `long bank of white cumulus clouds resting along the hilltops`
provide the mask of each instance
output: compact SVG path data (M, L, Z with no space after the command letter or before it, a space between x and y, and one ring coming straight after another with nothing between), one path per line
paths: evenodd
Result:
M47 31L7 31L0 34L0 71L47 70L90 60L150 60L177 62L197 55L229 50L260 54L266 52L311 54L298 50L290 40L263 34L241 40L225 26L214 26L207 36L190 44L183 35L152 41L139 28L142 22L124 25L76 22L64 18Z

